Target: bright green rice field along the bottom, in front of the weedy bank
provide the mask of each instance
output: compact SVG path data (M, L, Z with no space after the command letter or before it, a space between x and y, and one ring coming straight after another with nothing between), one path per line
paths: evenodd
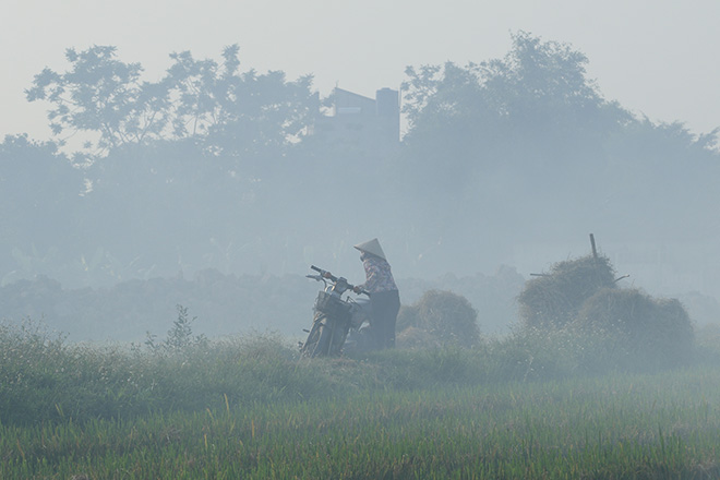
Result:
M698 370L3 425L0 477L717 478L719 381Z

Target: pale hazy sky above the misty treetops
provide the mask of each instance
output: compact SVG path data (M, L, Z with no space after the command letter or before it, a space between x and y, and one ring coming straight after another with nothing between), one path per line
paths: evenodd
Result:
M587 55L605 98L636 113L720 127L719 0L5 0L0 12L0 139L49 139L47 104L23 89L45 67L64 70L69 47L113 45L155 81L172 51L219 59L238 44L243 70L374 96L409 64L502 57L520 29Z

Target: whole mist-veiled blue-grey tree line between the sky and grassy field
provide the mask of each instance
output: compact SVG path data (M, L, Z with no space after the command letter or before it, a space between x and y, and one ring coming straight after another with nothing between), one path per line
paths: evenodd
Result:
M128 340L181 304L211 335L291 335L309 266L360 283L352 245L377 237L404 303L452 290L507 333L530 274L593 233L620 285L717 322L718 131L605 99L572 45L518 32L501 58L410 65L373 98L241 58L173 52L149 79L95 46L38 72L26 98L57 135L0 145L3 317Z

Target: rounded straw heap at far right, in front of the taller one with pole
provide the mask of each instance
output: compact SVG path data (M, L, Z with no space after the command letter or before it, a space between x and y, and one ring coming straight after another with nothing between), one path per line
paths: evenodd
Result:
M605 288L589 298L575 321L579 332L602 338L608 362L622 370L658 370L691 360L694 333L675 299L653 299L637 289Z

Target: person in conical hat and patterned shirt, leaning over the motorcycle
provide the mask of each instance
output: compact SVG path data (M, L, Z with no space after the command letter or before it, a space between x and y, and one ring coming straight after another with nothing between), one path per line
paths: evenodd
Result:
M400 295L383 248L376 238L355 245L365 269L365 283L355 287L370 293L373 322L371 335L377 348L395 347L395 324L400 310Z

